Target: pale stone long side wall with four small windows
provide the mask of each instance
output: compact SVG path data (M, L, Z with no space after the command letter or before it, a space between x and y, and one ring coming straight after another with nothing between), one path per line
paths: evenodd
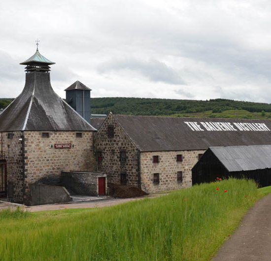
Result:
M198 162L198 155L205 150L141 152L141 187L147 193L176 190L192 186L192 167ZM176 155L182 155L182 162ZM153 163L153 156L159 156L159 163ZM177 171L182 171L183 181L177 182ZM159 184L153 183L154 173L159 173Z

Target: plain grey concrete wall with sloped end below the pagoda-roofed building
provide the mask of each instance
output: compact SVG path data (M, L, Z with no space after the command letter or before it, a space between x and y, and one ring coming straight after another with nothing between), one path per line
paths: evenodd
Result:
M30 185L30 201L28 205L44 205L71 201L68 191L64 187L44 184Z

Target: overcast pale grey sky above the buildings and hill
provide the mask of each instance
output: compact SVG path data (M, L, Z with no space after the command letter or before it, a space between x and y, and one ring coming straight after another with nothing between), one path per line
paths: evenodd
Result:
M38 38L62 98L79 80L92 97L271 103L270 0L9 0L0 25L0 98Z

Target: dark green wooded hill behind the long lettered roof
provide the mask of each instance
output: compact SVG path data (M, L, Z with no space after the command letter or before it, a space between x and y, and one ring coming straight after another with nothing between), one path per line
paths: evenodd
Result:
M230 99L91 98L91 113L93 114L107 114L111 111L113 114L172 115L204 111L221 113L228 110L271 112L271 104Z

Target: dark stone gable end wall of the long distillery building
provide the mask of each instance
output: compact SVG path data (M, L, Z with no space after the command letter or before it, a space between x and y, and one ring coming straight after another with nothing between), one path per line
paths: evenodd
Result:
M114 128L114 137L109 138L107 128ZM98 171L106 172L108 182L120 184L121 173L126 173L127 185L138 186L138 152L135 145L109 114L102 127L95 134L95 150L102 153L97 161ZM120 152L126 151L126 162L120 162Z

